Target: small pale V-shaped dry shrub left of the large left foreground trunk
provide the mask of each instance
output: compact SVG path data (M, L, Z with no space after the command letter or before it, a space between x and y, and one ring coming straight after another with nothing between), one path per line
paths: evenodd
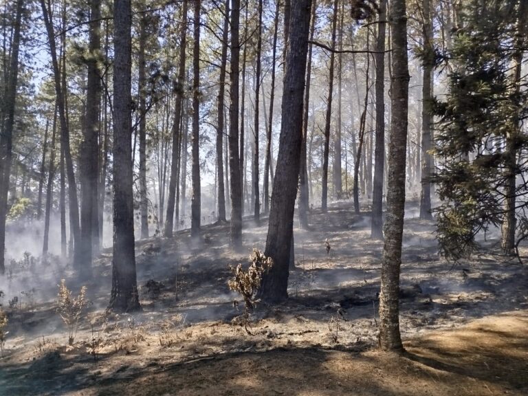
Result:
M68 329L68 344L73 345L80 319L83 317L83 309L88 305L86 299L86 286L80 288L79 295L72 297L72 291L66 287L66 281L61 279L58 285L56 311L63 318Z

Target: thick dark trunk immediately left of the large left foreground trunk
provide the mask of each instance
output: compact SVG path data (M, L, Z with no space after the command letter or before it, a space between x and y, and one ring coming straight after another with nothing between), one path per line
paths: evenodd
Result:
M98 226L98 134L101 75L98 67L100 41L100 0L90 0L90 33L87 59L88 80L83 144L80 151L81 216L80 216L80 277L91 278L91 261L94 241L99 239Z

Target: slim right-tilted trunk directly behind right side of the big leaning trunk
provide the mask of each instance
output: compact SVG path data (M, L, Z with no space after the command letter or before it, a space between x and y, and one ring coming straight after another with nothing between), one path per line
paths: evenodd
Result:
M316 31L316 10L317 0L311 1L310 16L310 41L314 41ZM306 89L303 113L303 144L300 147L300 168L299 168L299 223L300 227L305 230L308 228L308 207L309 207L309 186L308 166L307 166L307 140L308 140L308 117L310 105L310 86L311 86L311 54L312 45L308 45L308 65L306 70ZM311 158L311 155L310 155Z

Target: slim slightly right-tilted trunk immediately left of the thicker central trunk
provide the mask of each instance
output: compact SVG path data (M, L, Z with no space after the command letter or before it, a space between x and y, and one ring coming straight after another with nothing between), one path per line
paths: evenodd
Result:
M225 185L223 180L223 128L225 106L225 72L228 64L229 47L229 14L230 0L225 0L223 32L222 32L222 58L220 64L220 88L218 90L217 101L217 170L218 170L218 221L225 221Z

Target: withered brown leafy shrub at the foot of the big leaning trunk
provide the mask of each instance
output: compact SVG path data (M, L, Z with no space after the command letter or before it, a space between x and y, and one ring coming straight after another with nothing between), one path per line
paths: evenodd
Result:
M251 334L248 330L250 314L260 301L256 298L256 294L261 287L262 276L270 270L273 260L266 257L260 250L253 249L250 262L248 270L243 270L241 264L236 268L230 265L229 269L233 277L228 281L229 289L239 293L244 300L244 312L241 316L234 318L233 322L243 325L249 334ZM234 302L234 306L238 307L237 301Z

